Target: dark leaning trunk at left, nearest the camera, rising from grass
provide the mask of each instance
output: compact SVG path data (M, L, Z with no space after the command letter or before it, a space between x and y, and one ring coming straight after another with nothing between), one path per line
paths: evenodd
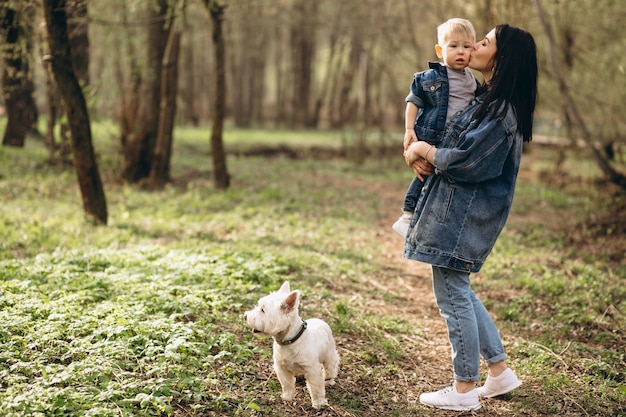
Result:
M72 67L65 7L65 0L43 0L52 72L59 86L70 126L74 167L85 214L96 223L106 224L106 198L91 140L87 103Z

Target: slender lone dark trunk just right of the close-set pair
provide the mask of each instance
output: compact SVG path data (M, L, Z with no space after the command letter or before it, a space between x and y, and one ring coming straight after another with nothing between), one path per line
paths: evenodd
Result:
M226 114L226 53L222 33L222 17L226 6L216 0L205 0L211 14L213 47L215 49L215 99L213 128L211 129L211 156L213 158L213 183L215 188L223 190L229 187L230 177L226 169L226 153L222 132Z

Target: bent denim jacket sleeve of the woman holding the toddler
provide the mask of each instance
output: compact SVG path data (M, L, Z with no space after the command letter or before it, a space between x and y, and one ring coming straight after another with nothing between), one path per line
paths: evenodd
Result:
M514 144L516 126L511 108L503 118L486 117L470 123L457 143L435 152L437 173L450 182L482 182L500 176Z

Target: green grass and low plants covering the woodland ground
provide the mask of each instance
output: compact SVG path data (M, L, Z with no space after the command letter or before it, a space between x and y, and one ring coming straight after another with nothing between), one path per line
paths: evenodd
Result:
M0 148L0 414L320 415L303 391L297 404L276 400L271 345L242 319L284 280L303 291L303 317L325 318L338 341L327 415L432 413L416 396L449 380L445 343L433 345L426 325L441 321L410 311L423 302L392 285L404 265L381 256L390 207L380 190L402 197L399 163L232 156L232 187L217 192L208 132L187 128L175 181L148 192L115 179L114 129L96 125L94 136L106 227L85 221L73 171L42 164L42 144ZM225 137L228 149L342 140ZM523 394L488 403L489 415L626 415L626 267L572 247L550 217L575 225L598 198L520 181L511 222L475 277L525 380Z

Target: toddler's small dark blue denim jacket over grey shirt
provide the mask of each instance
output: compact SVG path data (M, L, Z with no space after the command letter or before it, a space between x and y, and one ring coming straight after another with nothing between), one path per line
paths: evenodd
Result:
M429 62L427 71L413 74L411 91L405 101L419 107L414 125L420 140L437 145L443 137L448 112L448 71L439 62Z

